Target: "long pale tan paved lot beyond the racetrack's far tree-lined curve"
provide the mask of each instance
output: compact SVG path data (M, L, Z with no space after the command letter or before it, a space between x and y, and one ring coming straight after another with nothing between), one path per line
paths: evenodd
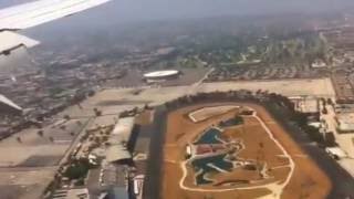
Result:
M93 115L93 108L97 107L103 112L103 114L116 114L136 106L142 107L146 103L150 103L152 105L163 104L185 94L230 90L267 90L269 92L277 92L287 96L335 96L330 78L220 82L170 87L108 88L103 90L95 96L85 101L82 104L83 109L80 109L77 106L73 106L69 108L66 113L70 113L73 117L82 117ZM110 105L107 105L107 102Z

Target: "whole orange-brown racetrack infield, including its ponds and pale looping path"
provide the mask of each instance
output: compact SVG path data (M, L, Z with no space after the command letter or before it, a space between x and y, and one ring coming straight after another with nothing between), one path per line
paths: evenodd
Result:
M259 105L178 108L168 114L165 136L162 198L325 198L332 189Z

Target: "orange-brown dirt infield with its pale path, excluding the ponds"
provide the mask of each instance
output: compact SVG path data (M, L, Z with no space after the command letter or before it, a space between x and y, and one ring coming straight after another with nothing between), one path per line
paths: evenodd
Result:
M256 111L257 117L243 117L242 125L225 128L222 139L241 139L246 147L239 151L238 158L267 163L267 174L270 178L260 180L258 172L236 168L229 172L209 175L208 178L214 179L211 185L196 184L196 171L186 163L186 146L194 143L205 129L235 116L238 111L217 114L199 123L194 123L186 115L198 108L216 105L239 105ZM204 104L170 113L164 144L162 196L164 199L325 198L332 187L330 179L314 161L300 149L263 107L254 104ZM218 182L232 179L251 182L217 186Z

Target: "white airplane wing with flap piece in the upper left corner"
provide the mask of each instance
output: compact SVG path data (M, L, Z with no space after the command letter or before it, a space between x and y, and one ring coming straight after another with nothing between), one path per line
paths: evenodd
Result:
M20 48L31 48L38 41L10 31L32 28L111 0L38 0L0 10L0 55Z

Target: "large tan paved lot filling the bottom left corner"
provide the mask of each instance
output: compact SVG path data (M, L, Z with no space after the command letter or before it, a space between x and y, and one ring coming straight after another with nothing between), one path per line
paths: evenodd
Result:
M87 118L61 121L54 119L43 127L43 136L33 127L0 142L0 198L37 199L41 196ZM21 143L17 137L21 137Z

